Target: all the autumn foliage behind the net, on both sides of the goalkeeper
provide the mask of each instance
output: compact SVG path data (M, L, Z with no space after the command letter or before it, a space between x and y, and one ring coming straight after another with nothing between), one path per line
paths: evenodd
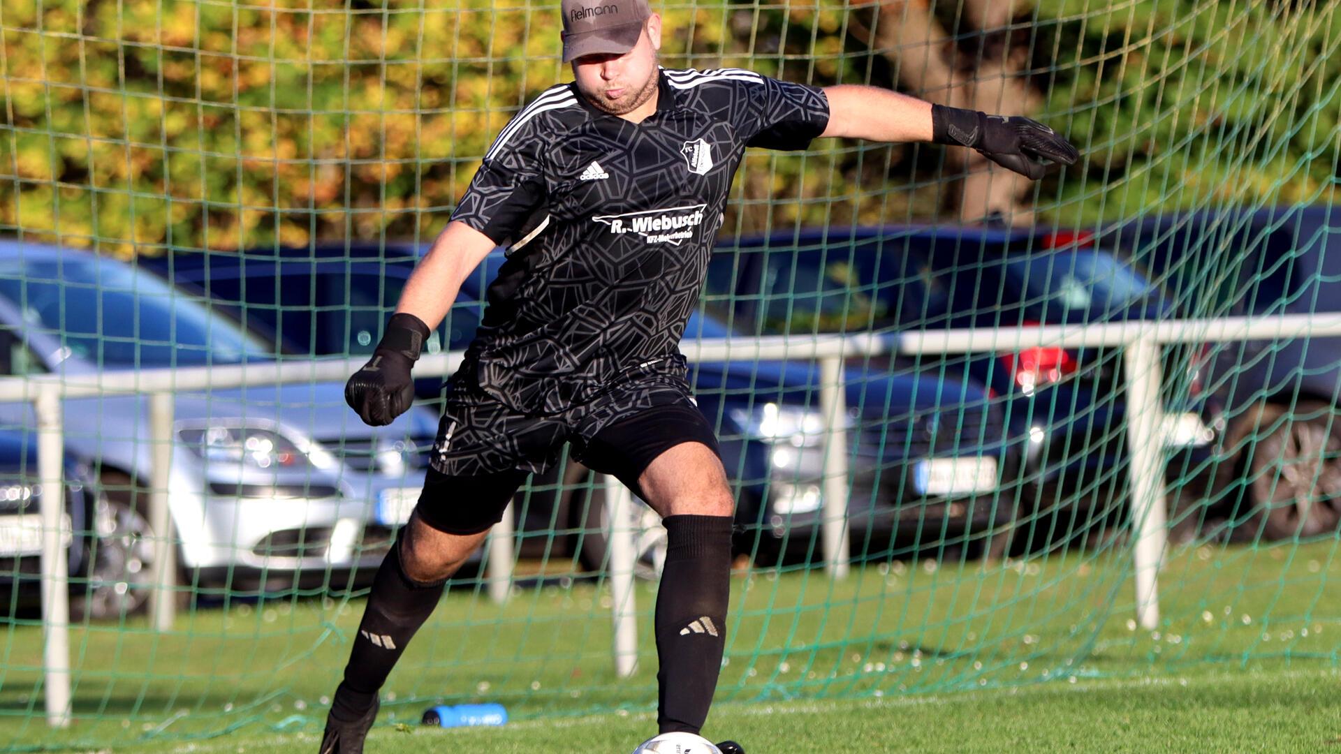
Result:
M570 78L558 3L316 5L0 0L0 231L121 254L426 239L507 119ZM1038 185L1045 215L1309 201L1336 180L1333 4L1037 0L987 35L956 31L960 5L935 8L957 64L1026 39L1038 117L1085 153ZM662 63L897 86L898 51L854 34L869 12L676 4ZM751 152L725 231L952 217L947 165L925 145Z

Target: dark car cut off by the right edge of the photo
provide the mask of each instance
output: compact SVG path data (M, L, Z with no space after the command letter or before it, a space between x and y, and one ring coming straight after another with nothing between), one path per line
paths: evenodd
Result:
M1341 313L1341 208L1224 208L1121 223L1189 317ZM1206 499L1243 537L1341 529L1341 337L1211 343L1202 384L1223 407Z

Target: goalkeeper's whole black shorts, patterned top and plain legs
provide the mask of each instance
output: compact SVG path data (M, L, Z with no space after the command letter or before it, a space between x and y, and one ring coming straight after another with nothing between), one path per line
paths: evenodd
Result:
M683 378L626 381L589 404L546 416L526 416L477 389L453 386L414 513L439 531L485 531L503 519L528 474L559 459L565 443L575 460L614 475L634 494L641 494L642 471L675 445L703 443L721 455Z

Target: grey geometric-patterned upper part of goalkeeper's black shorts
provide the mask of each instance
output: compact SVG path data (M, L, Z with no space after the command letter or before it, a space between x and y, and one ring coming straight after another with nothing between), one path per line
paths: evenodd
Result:
M563 443L582 460L587 443L611 423L653 407L695 407L685 360L680 354L622 374L585 404L534 416L519 412L477 386L448 382L443 420L430 456L432 467L448 476L481 476L503 471L542 474L554 466Z

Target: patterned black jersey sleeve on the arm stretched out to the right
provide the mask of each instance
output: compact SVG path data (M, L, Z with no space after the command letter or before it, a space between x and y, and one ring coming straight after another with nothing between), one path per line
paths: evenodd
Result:
M738 83L750 98L746 146L805 149L829 126L829 98L819 87L762 75Z

